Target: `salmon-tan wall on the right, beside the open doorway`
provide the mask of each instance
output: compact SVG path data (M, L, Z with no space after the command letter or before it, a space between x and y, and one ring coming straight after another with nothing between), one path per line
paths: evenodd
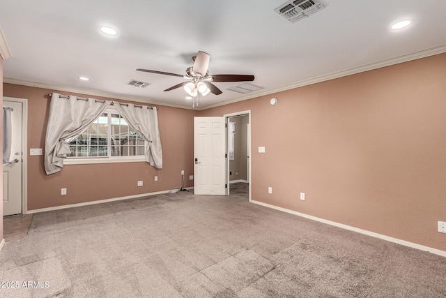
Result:
M200 116L252 111L253 200L446 251L445 82L439 54Z

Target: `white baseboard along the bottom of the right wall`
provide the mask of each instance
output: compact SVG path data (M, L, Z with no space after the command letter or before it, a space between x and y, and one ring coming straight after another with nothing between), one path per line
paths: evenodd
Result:
M305 217L305 218L311 219L313 221L326 223L328 225L334 225L335 227L338 227L338 228L351 230L353 232L358 232L358 233L361 233L361 234L365 234L367 236L383 239L383 240L390 241L390 242L393 242L393 243L396 243L396 244L401 244L403 246L408 246L410 248L419 249L420 251L428 251L429 253L434 253L436 255L441 255L442 257L446 257L446 251L440 251L439 249L431 248L429 246L424 246L424 245L421 245L421 244L416 244L416 243L413 243L413 242L409 242L409 241L405 241L405 240L389 237L389 236L386 236L386 235L383 235L383 234L378 234L378 233L375 233L375 232L362 230L360 228L355 228L355 227L352 227L351 225L344 225L343 223L337 223L335 221L328 221L328 220L323 219L323 218L318 218L316 216L303 214L303 213L300 213L298 211L293 211L293 210L290 210L290 209L277 207L277 206L272 205L272 204L266 204L266 203L255 201L255 200L250 200L249 202L252 202L254 204L259 204L259 205L261 205L263 207L268 207L268 208L276 209L276 210L279 210L279 211L283 211L283 212L286 212L286 213L289 213L289 214L294 214L294 215L297 215L297 216Z

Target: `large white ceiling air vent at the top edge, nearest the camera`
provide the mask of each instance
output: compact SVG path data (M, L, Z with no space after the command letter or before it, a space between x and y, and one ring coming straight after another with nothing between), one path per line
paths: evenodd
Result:
M322 0L290 0L275 9L275 12L292 23L298 22L303 17L325 8L327 3Z

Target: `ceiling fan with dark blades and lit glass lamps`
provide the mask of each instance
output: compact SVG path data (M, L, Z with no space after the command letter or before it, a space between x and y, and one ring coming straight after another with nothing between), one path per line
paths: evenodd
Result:
M186 75L178 75L176 73L165 73L164 71L149 70L138 68L137 71L144 71L146 73L157 73L159 75L172 75L174 77L183 77L187 82L176 84L164 91L171 91L179 87L184 87L187 94L195 97L200 93L202 96L212 93L215 95L222 94L222 91L212 82L247 82L254 81L254 75L209 75L210 55L206 52L199 51L197 56L192 57L194 66L186 69Z

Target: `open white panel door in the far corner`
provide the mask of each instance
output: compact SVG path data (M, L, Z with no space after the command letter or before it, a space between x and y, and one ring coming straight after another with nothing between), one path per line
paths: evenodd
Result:
M194 194L226 195L224 117L194 117Z

